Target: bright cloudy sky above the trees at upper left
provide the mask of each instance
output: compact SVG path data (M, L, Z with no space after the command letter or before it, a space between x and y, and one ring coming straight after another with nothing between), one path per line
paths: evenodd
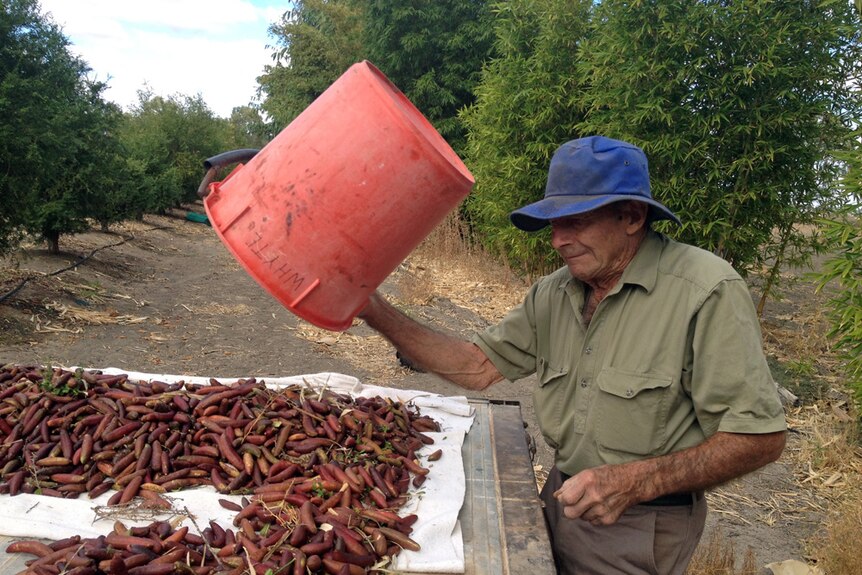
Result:
M217 116L255 97L257 77L272 63L269 25L289 0L40 0L63 29L72 53L103 98L128 110L139 90L159 96L201 95Z

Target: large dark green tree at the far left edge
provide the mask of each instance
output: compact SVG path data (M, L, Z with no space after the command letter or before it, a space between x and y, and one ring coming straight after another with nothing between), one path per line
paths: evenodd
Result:
M112 140L116 107L105 86L87 78L85 62L34 0L10 0L0 13L0 252L22 233L48 241L88 226L99 196L122 188ZM110 181L109 181L110 180Z

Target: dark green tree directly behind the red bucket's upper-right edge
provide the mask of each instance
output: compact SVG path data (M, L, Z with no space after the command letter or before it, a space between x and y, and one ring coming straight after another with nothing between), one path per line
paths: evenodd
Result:
M463 152L466 133L458 113L474 102L494 46L489 2L370 0L366 13L368 59Z

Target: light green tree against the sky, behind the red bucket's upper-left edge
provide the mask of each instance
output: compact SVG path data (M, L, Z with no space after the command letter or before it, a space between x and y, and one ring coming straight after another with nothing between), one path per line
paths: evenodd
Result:
M284 127L347 68L364 58L364 0L297 0L272 24L273 64L258 78L261 105Z

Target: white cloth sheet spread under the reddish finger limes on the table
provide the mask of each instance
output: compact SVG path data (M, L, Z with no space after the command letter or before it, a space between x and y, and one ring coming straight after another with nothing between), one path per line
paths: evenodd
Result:
M126 373L131 381L158 380L166 383L183 380L190 383L208 383L210 377L148 374L118 368L102 369L104 373ZM237 377L216 377L228 383ZM473 410L466 397L444 397L423 391L408 391L364 385L358 379L338 373L316 373L290 377L261 377L268 386L279 387L306 384L314 388L326 386L333 391L353 397L388 397L412 402L423 415L438 421L442 431L429 433L434 444L417 453L420 463L431 468L428 480L419 489L411 487L412 497L402 514L416 513L411 538L422 549L418 552L402 551L392 568L413 573L463 573L464 546L458 513L464 501L465 477L461 459L464 437L473 423ZM437 449L443 456L435 462L425 458ZM107 501L113 492L95 500L86 495L79 499L60 499L40 495L20 494L15 497L0 495L0 534L15 538L62 539L72 535L98 537L107 534L116 520L126 526L148 525L155 519L182 520L193 532L209 525L210 520L225 528L233 527L234 513L219 505L219 499L239 503L240 496L223 495L212 487L199 487L172 492L171 512L139 514L108 508Z

